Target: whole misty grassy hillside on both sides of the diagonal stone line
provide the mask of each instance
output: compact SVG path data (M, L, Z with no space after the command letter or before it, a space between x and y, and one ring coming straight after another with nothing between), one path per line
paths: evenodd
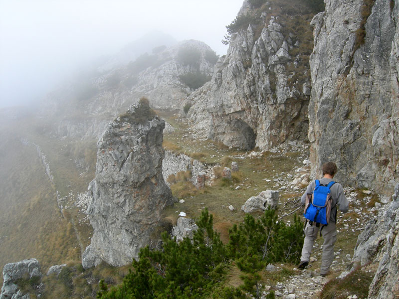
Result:
M30 118L0 127L0 269L27 258L38 259L43 272L51 265L80 261L92 235L87 220L82 221L84 215L67 202L87 190L93 171L80 175L69 154L63 153L67 142L48 139L42 128L40 121ZM21 138L30 144L23 145ZM53 183L31 143L46 155ZM67 196L63 213L57 192Z

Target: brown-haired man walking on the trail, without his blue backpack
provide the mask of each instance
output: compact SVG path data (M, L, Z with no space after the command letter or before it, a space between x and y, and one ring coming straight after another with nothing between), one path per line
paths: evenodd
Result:
M327 162L323 164L323 177L319 180L321 185L327 186L333 181L334 175L337 173L338 168L334 162ZM302 195L301 202L304 205L307 194L312 194L316 187L316 182L311 182L306 188L306 192ZM334 259L334 244L337 240L337 204L342 212L346 213L349 208L349 202L345 197L344 189L341 184L334 183L331 187L331 214L328 225L321 227L321 235L323 236L323 255L321 260L320 275L325 277L329 273L329 268ZM313 244L317 239L317 235L320 230L320 225L308 221L305 226L305 240L302 248L301 263L299 269L304 269L310 260L310 254L312 253Z

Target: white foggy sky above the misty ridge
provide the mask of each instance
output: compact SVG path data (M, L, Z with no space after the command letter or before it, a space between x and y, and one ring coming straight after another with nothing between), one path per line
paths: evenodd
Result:
M158 30L223 55L243 0L0 0L0 108L31 103L79 67Z

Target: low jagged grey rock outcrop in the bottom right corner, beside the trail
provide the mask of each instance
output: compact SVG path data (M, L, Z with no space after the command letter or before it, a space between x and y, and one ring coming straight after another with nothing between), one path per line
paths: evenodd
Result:
M392 203L380 210L359 235L353 261L365 265L378 263L369 288L373 299L395 299L399 296L399 184Z

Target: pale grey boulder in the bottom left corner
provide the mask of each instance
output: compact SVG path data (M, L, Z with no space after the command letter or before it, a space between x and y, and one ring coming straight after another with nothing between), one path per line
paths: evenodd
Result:
M41 279L40 265L36 259L23 260L17 263L6 264L3 268L3 286L0 299L28 299L29 295L23 295L15 284L19 279Z

